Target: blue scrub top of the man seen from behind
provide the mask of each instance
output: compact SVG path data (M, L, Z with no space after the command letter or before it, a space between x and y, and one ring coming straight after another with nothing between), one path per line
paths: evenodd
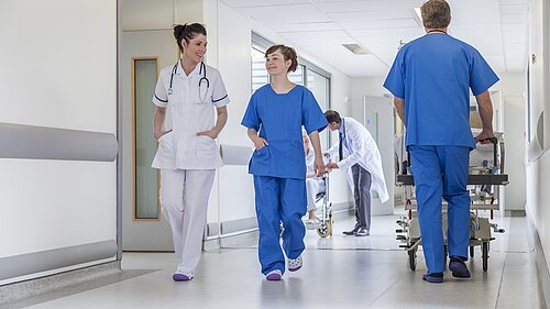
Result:
M477 96L497 81L474 47L448 34L431 33L403 46L384 87L405 99L407 146L475 148L470 89Z

